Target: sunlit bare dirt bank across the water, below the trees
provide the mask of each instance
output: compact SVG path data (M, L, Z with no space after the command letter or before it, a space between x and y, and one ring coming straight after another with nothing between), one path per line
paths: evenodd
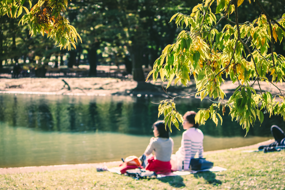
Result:
M69 85L65 85L65 82ZM164 89L167 82L157 80L153 84L152 81L137 82L132 79L117 78L19 78L19 79L0 79L0 93L34 93L34 94L58 94L58 95L158 95L166 96ZM164 87L164 89L162 88ZM266 82L261 83L262 90L279 94L280 91L272 84ZM284 89L280 83L276 86ZM235 91L237 83L232 84L231 81L225 81L221 85L221 89L230 97ZM253 88L259 92L258 84L254 84ZM194 79L187 87L181 83L178 86L172 85L167 89L170 96L187 95L196 91ZM194 96L194 95L192 95Z

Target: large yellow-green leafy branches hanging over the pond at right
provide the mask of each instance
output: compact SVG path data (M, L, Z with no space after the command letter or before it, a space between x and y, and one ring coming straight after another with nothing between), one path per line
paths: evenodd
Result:
M176 43L164 48L148 77L152 74L154 81L158 77L168 80L169 87L174 78L175 84L180 81L186 86L193 75L197 89L193 93L195 96L200 96L201 100L206 96L219 100L198 111L195 120L199 124L205 124L209 118L215 124L218 124L218 118L222 122L217 111L221 109L224 113L225 107L229 107L232 119L247 132L257 118L262 123L262 109L270 115L285 118L284 90L278 88L280 94L276 98L260 87L262 81L274 85L285 80L285 58L273 49L273 44L280 44L285 36L285 14L273 19L259 0L217 0L216 5L213 2L203 0L190 15L173 15L170 22L175 21L177 26L190 30L180 32ZM257 19L239 23L239 6L245 3L257 4L261 14ZM211 10L213 7L215 13ZM222 20L227 24L218 30ZM227 99L221 89L222 75L237 83L235 92ZM269 76L272 79L268 79ZM259 91L253 89L255 83L259 85ZM173 122L178 128L178 121L183 122L183 118L175 109L175 98L161 101L158 115L163 113L165 123L170 127Z

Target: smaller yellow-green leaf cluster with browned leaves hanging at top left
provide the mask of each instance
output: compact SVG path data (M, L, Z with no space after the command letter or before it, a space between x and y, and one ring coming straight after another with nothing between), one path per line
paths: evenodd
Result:
M30 34L36 35L40 33L44 36L53 38L60 48L71 49L71 44L76 48L77 37L80 38L76 29L70 25L69 21L62 16L66 11L68 0L39 0L33 7L32 1L30 11L23 6L26 0L3 0L0 3L0 16L7 15L10 18L17 18L25 10L25 14L21 18L20 23L28 23ZM80 38L81 40L81 38Z

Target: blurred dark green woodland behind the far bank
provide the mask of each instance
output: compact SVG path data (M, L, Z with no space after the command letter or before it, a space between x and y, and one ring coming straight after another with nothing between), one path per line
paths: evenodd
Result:
M34 4L36 0L32 1ZM76 28L82 43L76 50L60 50L54 40L30 36L18 19L0 18L0 77L133 77L144 81L163 48L176 42L182 30L170 18L177 12L190 15L200 0L72 0L63 14ZM26 2L27 3L27 2ZM263 0L274 19L282 17L284 0ZM215 13L216 3L211 7ZM27 7L27 6L26 6ZM239 7L239 22L253 21L261 11L257 3ZM216 15L219 20L223 14ZM231 15L230 20L234 20ZM228 23L222 20L219 31ZM189 30L186 29L186 30ZM284 40L274 51L284 55ZM13 67L19 63L16 68ZM13 74L14 72L14 74ZM16 73L15 73L16 72Z

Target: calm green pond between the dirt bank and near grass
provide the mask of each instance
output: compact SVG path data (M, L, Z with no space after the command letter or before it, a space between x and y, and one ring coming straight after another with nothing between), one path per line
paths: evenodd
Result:
M68 96L0 94L0 167L23 167L118 161L143 154L158 120L163 97ZM154 102L154 103L152 103ZM206 108L211 101L180 98L180 113ZM225 115L228 115L226 111ZM160 118L162 119L162 117ZM264 122L246 131L231 117L199 128L204 151L235 148L272 139L270 126L284 129L281 117L264 115ZM184 131L172 127L174 151Z

